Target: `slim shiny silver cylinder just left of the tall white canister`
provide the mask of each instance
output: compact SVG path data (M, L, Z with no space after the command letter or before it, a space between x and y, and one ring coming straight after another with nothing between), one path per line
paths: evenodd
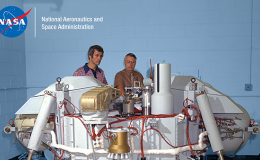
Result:
M151 115L151 95L152 87L149 85L144 86L142 93L142 115Z

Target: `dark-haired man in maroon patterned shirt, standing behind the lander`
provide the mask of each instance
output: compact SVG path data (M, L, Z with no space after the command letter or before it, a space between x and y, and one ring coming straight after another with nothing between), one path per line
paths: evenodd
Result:
M91 46L88 50L89 62L77 69L73 76L92 76L107 85L104 71L98 67L104 55L104 50L99 45Z

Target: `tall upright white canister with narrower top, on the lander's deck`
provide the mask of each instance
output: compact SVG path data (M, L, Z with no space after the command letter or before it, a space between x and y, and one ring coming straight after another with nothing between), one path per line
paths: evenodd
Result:
M155 64L154 93L152 95L152 114L173 114L173 95L171 93L171 64Z

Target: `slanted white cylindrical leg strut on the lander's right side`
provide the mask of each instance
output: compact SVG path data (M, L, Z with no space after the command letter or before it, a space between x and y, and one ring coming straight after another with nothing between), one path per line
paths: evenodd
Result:
M203 122L208 132L208 137L210 140L210 144L212 146L212 151L217 152L223 150L224 149L223 143L220 137L220 133L207 94L204 93L198 95L196 98L203 118Z

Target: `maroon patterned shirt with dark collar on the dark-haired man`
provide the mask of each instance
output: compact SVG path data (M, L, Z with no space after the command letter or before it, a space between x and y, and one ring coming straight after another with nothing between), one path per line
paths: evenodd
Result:
M92 77L95 77L97 80L101 81L102 83L104 83L105 85L108 85L104 71L98 67L96 68L96 71L95 71L95 70L89 68L87 63L84 66L77 69L73 73L73 76L92 76Z

